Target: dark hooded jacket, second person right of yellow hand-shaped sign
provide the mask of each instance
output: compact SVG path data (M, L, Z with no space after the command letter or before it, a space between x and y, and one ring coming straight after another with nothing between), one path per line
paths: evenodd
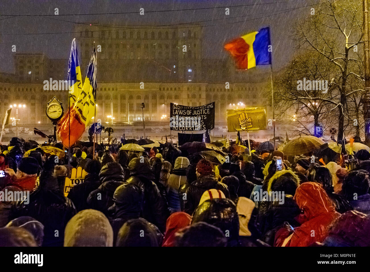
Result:
M118 186L125 184L124 172L118 162L108 162L99 173L101 185L98 189L92 191L88 198L88 208L101 211L108 215L108 208L114 204L113 194Z

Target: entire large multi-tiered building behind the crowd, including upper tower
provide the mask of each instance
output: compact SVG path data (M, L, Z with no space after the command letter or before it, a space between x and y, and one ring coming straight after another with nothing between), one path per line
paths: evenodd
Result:
M224 131L227 109L269 107L264 98L270 87L265 75L238 71L231 58L202 57L199 25L78 25L74 32L83 79L94 42L97 48L96 118L103 123L131 125L144 115L148 125L166 126L170 103L200 106L215 101L215 123ZM0 73L1 115L10 105L24 104L19 124L50 124L47 102L55 96L67 110L68 90L60 86L51 90L45 84L67 79L68 59L17 53L14 62L14 74ZM145 103L144 111L141 103ZM271 118L269 108L267 112Z

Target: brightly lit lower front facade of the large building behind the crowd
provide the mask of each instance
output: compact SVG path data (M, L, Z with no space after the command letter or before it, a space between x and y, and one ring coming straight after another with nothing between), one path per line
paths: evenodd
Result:
M49 81L47 83L49 84ZM143 88L141 88L143 87ZM226 123L226 110L236 107L263 107L265 84L225 84L208 83L98 83L97 118L102 122L142 121L141 103L145 103L145 121L168 121L169 104L200 106L215 101L215 122ZM1 115L13 104L24 104L19 111L20 123L48 123L45 115L46 104L57 97L68 108L67 90L44 90L39 83L0 82ZM239 103L239 105L238 105Z

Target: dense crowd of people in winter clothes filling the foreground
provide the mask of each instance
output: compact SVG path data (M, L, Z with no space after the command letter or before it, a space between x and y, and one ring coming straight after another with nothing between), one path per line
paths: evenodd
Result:
M57 143L67 151L59 157L15 137L1 146L0 193L29 195L0 194L0 246L370 245L366 150L351 169L312 152L223 147L228 159L217 164L170 143L140 152L89 144ZM65 197L77 167L84 182Z

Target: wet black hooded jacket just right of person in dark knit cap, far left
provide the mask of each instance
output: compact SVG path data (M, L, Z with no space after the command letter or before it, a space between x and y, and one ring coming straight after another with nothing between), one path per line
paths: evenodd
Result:
M31 216L44 225L43 246L63 246L64 228L76 214L72 201L59 190L52 172L40 172L40 185L29 196L29 203L12 206L10 219ZM58 231L58 236L55 236Z

